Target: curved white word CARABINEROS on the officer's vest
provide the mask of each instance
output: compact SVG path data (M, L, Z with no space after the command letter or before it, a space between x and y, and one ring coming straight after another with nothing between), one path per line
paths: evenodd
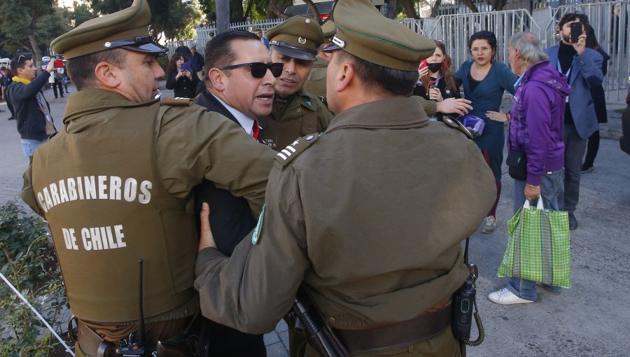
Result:
M52 182L36 193L36 197L41 209L48 213L52 207L77 200L124 200L148 204L152 189L151 181L133 177L78 176Z

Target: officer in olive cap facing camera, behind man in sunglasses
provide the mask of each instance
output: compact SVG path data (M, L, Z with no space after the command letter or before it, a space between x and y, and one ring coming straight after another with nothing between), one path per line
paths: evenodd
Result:
M272 113L259 118L259 139L280 151L298 137L323 132L332 113L323 97L302 90L323 43L321 26L307 16L294 16L269 29L267 38L272 62L282 62L284 68L274 85Z

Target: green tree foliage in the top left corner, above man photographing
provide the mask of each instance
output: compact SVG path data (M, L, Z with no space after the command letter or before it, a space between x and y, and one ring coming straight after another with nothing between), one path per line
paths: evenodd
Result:
M53 0L0 0L0 38L7 52L30 52L36 66L50 41L67 31Z

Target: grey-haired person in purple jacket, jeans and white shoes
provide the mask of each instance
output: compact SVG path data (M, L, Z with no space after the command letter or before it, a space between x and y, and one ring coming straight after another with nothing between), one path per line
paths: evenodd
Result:
M514 180L514 212L525 200L542 197L545 209L557 211L563 187L564 143L562 130L568 80L549 63L538 38L519 32L508 45L510 66L520 76L507 120L507 147L527 155L526 181ZM556 286L543 286L559 293ZM512 278L506 288L488 295L497 304L521 304L536 300L533 281Z

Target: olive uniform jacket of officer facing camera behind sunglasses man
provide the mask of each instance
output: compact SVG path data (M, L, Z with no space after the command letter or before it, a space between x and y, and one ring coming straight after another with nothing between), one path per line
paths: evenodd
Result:
M323 132L330 120L332 113L323 100L300 90L286 103L274 99L271 115L258 119L262 129L258 140L280 151L299 137Z

